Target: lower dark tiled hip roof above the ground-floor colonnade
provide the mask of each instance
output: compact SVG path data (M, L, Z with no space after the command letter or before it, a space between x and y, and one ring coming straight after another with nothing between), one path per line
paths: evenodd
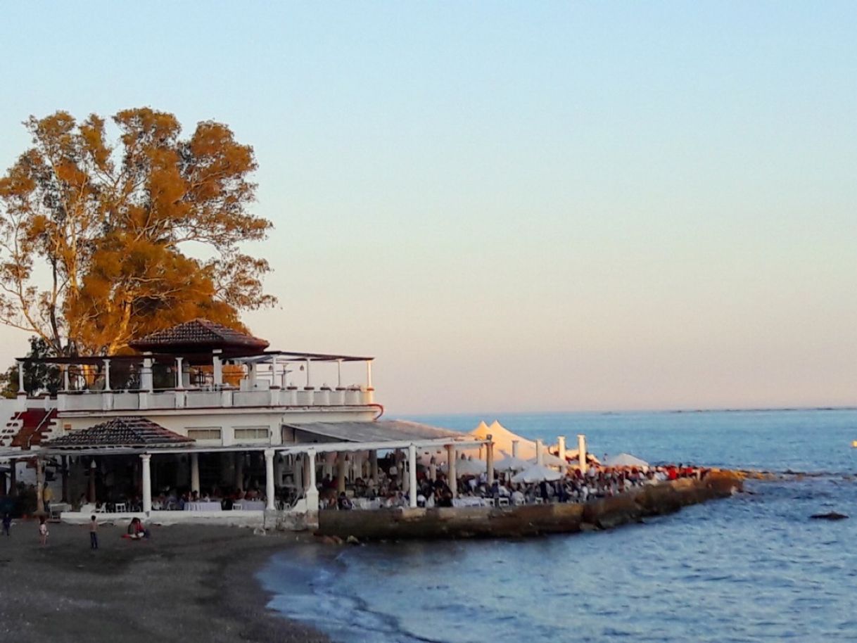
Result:
M113 418L88 429L72 430L45 442L45 448L89 447L172 447L192 444L193 438L179 436L146 418Z

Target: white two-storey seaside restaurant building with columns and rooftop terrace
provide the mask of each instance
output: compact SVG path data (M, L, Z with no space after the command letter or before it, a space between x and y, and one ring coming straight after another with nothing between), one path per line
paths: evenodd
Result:
M139 504L163 522L270 525L296 516L311 523L322 478L335 479L337 490L377 479L379 458L390 454L416 506L419 454L442 449L454 460L458 448L485 443L382 420L370 357L270 350L266 340L203 319L130 348L134 354L38 360L59 370L62 386L52 396L28 396L19 368L0 460L15 472L16 460L38 456L62 480L54 495L67 502L85 496L94 507L111 495L118 514ZM36 360L21 358L19 367L29 361ZM201 503L168 510L160 496L177 489L201 496L258 489L264 501L237 502L226 513ZM89 508L86 514L64 513L63 520L87 520Z

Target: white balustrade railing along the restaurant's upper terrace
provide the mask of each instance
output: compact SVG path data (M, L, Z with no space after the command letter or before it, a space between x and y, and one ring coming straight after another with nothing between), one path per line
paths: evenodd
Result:
M169 389L157 391L60 391L58 411L144 411L256 406L365 406L373 403L374 389L266 388L242 391Z

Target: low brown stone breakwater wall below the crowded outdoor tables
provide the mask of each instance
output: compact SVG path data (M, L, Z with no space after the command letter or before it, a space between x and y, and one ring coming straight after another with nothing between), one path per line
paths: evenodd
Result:
M377 541L521 538L609 529L647 516L672 514L686 505L731 496L743 489L742 480L739 472L715 471L702 480L680 478L584 504L321 511L315 533L321 537Z

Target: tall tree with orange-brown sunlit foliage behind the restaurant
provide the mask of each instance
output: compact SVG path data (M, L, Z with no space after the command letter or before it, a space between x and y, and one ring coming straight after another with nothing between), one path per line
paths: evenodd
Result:
M241 249L272 225L249 212L253 148L212 121L183 139L148 107L111 122L113 142L94 114L25 123L33 147L0 178L0 322L66 356L197 316L243 328L241 310L275 303L267 261Z

